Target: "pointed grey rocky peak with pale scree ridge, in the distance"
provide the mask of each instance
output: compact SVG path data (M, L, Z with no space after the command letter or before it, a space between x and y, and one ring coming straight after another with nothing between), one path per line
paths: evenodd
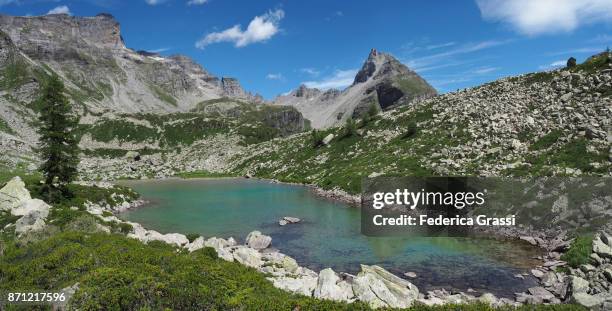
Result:
M358 118L372 105L387 110L436 94L427 81L395 57L372 49L347 89L321 91L301 85L274 102L296 107L313 127L325 128Z

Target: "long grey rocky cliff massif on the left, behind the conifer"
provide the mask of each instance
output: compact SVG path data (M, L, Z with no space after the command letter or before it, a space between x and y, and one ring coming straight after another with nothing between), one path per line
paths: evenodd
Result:
M64 81L83 124L93 124L101 116L188 112L200 102L219 98L263 102L245 92L236 79L219 79L189 57L127 48L119 23L109 14L0 14L2 150L10 147L15 155L32 150L37 141L34 100L53 74Z

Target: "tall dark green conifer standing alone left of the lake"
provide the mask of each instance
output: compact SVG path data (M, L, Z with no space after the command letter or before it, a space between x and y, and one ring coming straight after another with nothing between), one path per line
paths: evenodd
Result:
M71 114L64 83L57 75L44 85L38 107L42 194L49 202L58 202L70 196L68 184L77 174L79 149L74 133L78 119Z

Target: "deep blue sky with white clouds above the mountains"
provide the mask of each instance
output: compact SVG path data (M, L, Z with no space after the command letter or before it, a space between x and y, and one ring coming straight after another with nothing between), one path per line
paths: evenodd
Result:
M612 0L0 0L0 12L108 12L128 47L188 55L266 98L345 87L371 48L448 92L612 45Z

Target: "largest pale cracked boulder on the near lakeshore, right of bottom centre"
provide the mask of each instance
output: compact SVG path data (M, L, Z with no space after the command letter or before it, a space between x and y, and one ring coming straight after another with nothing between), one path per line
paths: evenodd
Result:
M361 265L353 279L355 296L372 307L406 308L419 297L419 289L379 266Z

